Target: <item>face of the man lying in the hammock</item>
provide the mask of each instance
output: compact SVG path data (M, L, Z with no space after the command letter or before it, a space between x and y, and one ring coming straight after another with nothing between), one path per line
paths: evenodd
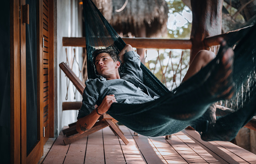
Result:
M117 73L117 62L110 57L108 53L100 53L95 60L96 70L100 76L104 78Z

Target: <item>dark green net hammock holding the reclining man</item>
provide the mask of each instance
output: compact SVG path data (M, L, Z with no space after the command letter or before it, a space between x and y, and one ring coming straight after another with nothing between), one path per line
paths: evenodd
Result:
M85 16L85 38L88 78L95 79L96 72L92 61L93 51L101 48L119 53L126 43L118 36L91 0L83 0ZM240 33L227 41L229 46L236 44L233 81L236 93L229 101L235 104L235 112L220 116L214 127L202 134L204 140L231 140L238 130L256 114L256 27L247 34ZM113 103L108 114L133 131L145 136L163 136L178 132L191 125L207 126L202 115L208 107L223 99L223 90L212 94L209 90L215 82L219 70L221 47L213 61L195 76L170 91L143 64L144 84L161 97L143 104ZM224 51L224 50L223 50ZM125 64L122 69L125 69ZM246 87L245 87L246 86ZM242 96L241 96L242 90ZM246 91L245 91L246 90ZM231 90L232 91L232 90ZM97 102L100 104L100 102Z

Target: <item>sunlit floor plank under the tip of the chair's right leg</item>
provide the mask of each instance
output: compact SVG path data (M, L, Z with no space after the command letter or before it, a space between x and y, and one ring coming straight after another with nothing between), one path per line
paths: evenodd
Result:
M146 164L128 128L126 126L119 127L129 141L129 144L125 145L125 143L119 139L127 164Z

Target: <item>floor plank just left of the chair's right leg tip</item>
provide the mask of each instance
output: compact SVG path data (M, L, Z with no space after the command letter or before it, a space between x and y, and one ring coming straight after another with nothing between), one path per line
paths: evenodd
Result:
M102 130L106 164L125 164L126 161L118 137L109 127Z

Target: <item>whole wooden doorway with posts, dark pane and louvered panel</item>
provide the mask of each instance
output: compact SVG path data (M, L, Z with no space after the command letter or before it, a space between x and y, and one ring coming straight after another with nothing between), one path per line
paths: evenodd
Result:
M43 10L47 11L44 16ZM34 15L34 18L30 19L32 17L29 15ZM31 33L31 30L34 30L34 33ZM34 39L28 41L31 36ZM27 47L28 45L30 47ZM33 48L34 50L28 53ZM34 61L28 62L29 54L30 57L36 57ZM35 86L32 90L35 94L28 96L32 87L28 83L31 80L31 70L28 69L31 64L34 65ZM53 0L10 0L11 164L38 163L43 156L43 144L49 137L54 137L53 64ZM36 102L32 107L29 102L31 99ZM30 115L31 111L35 114ZM30 123L32 119L35 120ZM35 124L33 129L30 124ZM45 139L43 127L46 127ZM31 142L32 133L34 138Z

